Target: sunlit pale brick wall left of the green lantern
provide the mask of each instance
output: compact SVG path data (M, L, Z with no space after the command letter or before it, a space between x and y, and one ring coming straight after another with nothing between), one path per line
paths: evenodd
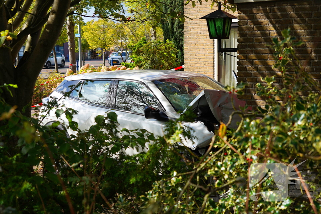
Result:
M212 1L188 4L184 7L186 19L184 23L184 64L185 71L203 73L214 77L214 40L209 38L206 20L201 17L217 10L211 8Z

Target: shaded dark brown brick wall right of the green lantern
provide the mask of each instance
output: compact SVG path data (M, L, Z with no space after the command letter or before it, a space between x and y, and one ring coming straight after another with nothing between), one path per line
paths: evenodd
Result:
M264 105L254 87L260 77L275 75L281 88L281 73L273 69L272 51L266 44L281 38L281 31L290 27L292 35L305 42L295 49L305 71L319 83L321 71L321 0L267 1L240 3L238 6L238 81L248 83L244 96L248 105ZM291 73L291 72L290 72Z

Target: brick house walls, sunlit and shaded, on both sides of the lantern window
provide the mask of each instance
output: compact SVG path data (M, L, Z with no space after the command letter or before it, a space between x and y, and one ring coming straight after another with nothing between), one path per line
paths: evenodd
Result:
M234 0L234 4L238 7L237 80L248 83L245 95L239 98L248 105L264 105L254 90L260 77L275 75L279 77L275 84L280 83L281 73L272 68L272 50L266 44L271 44L273 37L280 38L281 31L288 27L293 36L305 42L295 48L301 64L313 78L321 81L321 0ZM188 5L185 9L185 14L194 19L184 27L185 71L202 71L221 81L220 73L215 70L219 64L215 57L220 57L215 52L217 41L209 39L206 21L199 19L217 8L211 9L209 4L196 7ZM193 45L196 46L194 52ZM206 57L204 53L197 55L200 51L205 51Z

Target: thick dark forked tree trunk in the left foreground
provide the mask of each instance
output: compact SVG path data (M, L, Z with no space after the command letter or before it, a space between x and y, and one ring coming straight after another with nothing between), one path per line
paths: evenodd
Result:
M38 2L38 1L37 1ZM21 111L25 116L31 116L31 100L34 90L36 80L45 64L48 56L50 55L52 49L54 48L56 41L59 37L61 29L63 28L66 15L70 6L71 0L57 1L54 0L51 4L50 1L45 2L39 7L35 4L35 10L39 9L41 6L45 9L45 14L48 20L46 26L40 36L38 37L39 30L41 31L42 25L35 29L30 29L30 34L27 47L29 47L22 59L19 61L18 66L15 68L13 65L14 60L12 59L12 53L10 48L0 47L0 85L6 84L16 84L18 88L11 88L12 95L7 91L1 94L1 97L11 106L17 106L17 110ZM46 15L48 8L51 7L50 13ZM6 6L4 4L0 5L0 30L7 29L6 20ZM36 12L35 12L36 13ZM40 21L42 14L40 15ZM35 16L32 16L35 18ZM38 30L39 29L39 30ZM19 39L24 38L26 34L18 34ZM30 40L29 40L30 39ZM13 40L13 42L16 42ZM16 55L15 55L16 56ZM13 57L15 57L13 56Z

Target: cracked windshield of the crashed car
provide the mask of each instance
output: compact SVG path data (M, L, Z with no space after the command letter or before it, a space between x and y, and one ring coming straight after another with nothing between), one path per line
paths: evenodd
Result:
M207 77L169 78L152 82L176 111L183 111L204 89L224 90Z

